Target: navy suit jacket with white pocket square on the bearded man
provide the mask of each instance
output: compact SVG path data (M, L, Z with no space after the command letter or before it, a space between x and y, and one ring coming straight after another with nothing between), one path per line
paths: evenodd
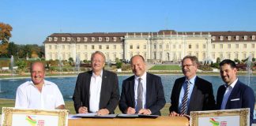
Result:
M222 100L224 97L224 93L226 91L226 87L221 85L218 89L216 96L216 107L217 109L221 108ZM239 99L233 101L232 99ZM232 100L232 101L231 101ZM228 102L226 104L225 109L241 109L241 108L250 108L250 124L254 119L254 91L240 82L239 80L235 83L235 87L233 88L231 94L228 97Z

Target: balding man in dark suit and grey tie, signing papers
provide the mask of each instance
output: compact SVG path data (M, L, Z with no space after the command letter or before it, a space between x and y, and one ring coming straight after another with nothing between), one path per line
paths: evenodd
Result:
M145 60L141 55L131 57L130 61L134 76L122 82L119 109L127 114L160 115L165 105L160 76L145 72Z

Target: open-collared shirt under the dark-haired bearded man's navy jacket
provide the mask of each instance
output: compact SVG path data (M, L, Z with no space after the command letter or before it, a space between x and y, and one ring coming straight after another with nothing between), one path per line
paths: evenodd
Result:
M237 80L238 80L238 78L232 84L230 84L229 86L225 84L226 91L224 93L220 109L225 109L226 108L229 95L231 94L233 88L235 87L235 83L237 82Z

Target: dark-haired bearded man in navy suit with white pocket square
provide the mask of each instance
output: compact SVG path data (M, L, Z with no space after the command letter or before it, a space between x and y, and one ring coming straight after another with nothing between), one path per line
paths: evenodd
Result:
M217 109L250 108L250 124L254 119L254 91L240 82L236 76L235 62L229 59L220 62L220 76L224 81L217 92Z

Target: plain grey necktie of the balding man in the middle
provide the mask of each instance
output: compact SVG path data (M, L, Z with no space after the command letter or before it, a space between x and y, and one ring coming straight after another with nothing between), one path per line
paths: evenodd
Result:
M141 83L141 78L138 78L138 83L137 83L137 113L140 109L143 109L142 97L143 97L143 87L142 87L142 83Z

